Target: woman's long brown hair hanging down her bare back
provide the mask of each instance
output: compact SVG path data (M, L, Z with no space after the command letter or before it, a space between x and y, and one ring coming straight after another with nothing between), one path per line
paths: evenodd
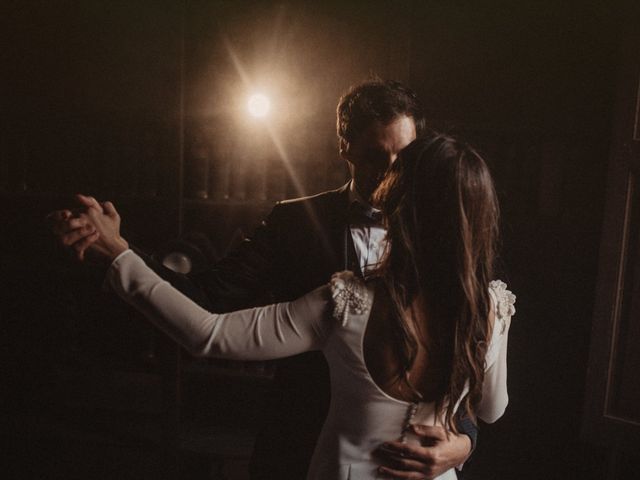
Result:
M498 200L489 170L469 145L434 135L405 148L374 194L388 222L380 269L396 306L398 378L409 378L422 344L441 372L436 411L457 432L456 401L475 418L489 339L489 282L498 238ZM420 332L425 333L421 335Z

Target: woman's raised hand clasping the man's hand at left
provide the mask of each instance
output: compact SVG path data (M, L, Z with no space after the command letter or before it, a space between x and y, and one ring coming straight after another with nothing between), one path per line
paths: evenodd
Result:
M83 260L85 251L99 259L112 262L129 248L120 236L120 215L111 202L98 203L93 197L78 195L78 200L87 206L79 218L92 225L95 231L73 245L78 258Z

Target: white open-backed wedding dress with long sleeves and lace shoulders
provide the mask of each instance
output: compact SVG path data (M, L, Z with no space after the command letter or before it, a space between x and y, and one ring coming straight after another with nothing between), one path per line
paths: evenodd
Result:
M372 452L398 440L410 424L442 424L432 403L412 404L383 392L364 362L363 339L374 288L350 272L292 302L210 313L175 290L128 250L111 265L108 283L125 301L199 356L267 360L322 350L331 372L331 406L307 478L358 480L378 477ZM496 323L486 355L478 416L497 420L507 406L507 337L515 297L492 282ZM301 425L301 427L304 427ZM408 443L418 442L411 434ZM455 480L453 469L437 477Z

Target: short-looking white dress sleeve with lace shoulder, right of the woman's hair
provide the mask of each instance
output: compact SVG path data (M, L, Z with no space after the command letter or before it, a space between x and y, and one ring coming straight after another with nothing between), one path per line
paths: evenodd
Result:
M507 343L511 317L515 314L516 297L501 281L491 282L490 292L495 306L495 324L486 356L482 401L477 413L483 421L493 423L507 408Z

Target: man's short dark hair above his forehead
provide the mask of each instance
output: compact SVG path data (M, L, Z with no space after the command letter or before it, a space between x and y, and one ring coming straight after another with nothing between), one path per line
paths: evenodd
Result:
M388 124L402 115L413 118L420 136L425 120L415 92L394 80L366 81L351 87L338 102L338 138L351 143L374 122Z

